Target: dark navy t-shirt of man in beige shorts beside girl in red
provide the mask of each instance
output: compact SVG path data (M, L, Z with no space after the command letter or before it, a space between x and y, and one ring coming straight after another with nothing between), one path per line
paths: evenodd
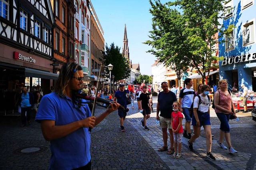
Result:
M161 91L158 94L157 101L159 102L160 116L166 119L172 118L172 103L177 101L176 95L172 91L169 91L168 93Z

